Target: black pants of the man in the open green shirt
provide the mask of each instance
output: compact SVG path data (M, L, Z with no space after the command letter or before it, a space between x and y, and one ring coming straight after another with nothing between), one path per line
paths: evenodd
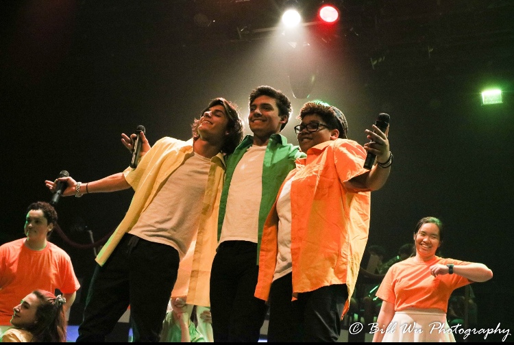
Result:
M254 296L259 266L257 244L219 245L210 272L210 313L215 342L258 342L267 306Z

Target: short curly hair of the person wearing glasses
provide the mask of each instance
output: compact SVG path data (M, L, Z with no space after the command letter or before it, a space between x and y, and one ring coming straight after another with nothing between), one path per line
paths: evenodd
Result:
M339 131L339 138L347 138L348 123L341 110L333 105L316 100L305 103L302 109L300 109L297 118L302 120L305 116L313 114L320 116L326 123L328 129L337 129Z

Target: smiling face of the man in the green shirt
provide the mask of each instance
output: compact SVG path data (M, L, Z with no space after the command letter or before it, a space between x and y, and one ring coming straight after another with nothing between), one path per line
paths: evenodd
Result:
M259 138L269 138L280 133L280 127L287 122L287 115L280 115L276 99L259 96L250 104L249 127Z

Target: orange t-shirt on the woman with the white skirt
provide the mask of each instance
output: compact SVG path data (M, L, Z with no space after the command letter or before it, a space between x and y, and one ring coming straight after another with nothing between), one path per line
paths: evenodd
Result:
M382 301L393 303L395 311L408 308L435 308L446 312L453 290L471 281L458 274L441 274L433 277L429 268L435 264L461 266L469 262L434 257L430 261L420 263L415 261L414 257L410 257L389 268L376 296Z

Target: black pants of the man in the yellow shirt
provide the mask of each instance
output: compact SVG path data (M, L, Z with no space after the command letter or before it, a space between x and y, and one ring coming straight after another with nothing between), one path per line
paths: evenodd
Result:
M93 274L77 342L105 342L129 305L134 342L158 342L178 264L175 248L124 235Z

